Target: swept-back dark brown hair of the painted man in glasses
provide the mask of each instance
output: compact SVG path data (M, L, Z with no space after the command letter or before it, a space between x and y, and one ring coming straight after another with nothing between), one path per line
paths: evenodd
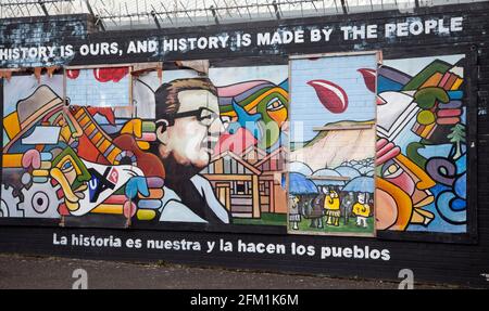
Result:
M217 96L217 90L209 78L176 79L164 83L154 92L156 120L159 118L172 118L180 107L178 93L189 90L206 90Z

